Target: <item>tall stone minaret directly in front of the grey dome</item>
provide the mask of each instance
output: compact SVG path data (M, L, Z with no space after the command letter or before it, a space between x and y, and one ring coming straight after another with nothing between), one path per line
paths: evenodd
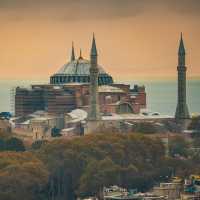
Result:
M89 120L99 120L100 119L100 113L99 113L99 103L98 103L98 75L99 75L99 69L97 65L97 48L96 48L96 42L95 37L93 34L93 40L92 40L92 48L90 52L90 101L89 101Z

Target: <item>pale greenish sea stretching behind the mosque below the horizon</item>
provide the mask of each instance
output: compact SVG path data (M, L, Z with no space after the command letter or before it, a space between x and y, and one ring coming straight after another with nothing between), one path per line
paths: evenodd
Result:
M15 86L45 83L44 81L7 81L0 80L0 112L12 111L11 89ZM177 102L176 81L136 81L129 84L146 86L147 106L152 112L174 115ZM191 113L200 113L200 80L189 80L187 83L187 102Z

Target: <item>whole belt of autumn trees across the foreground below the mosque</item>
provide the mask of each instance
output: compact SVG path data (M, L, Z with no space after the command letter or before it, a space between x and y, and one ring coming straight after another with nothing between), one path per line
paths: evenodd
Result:
M11 138L2 138L0 148L2 141ZM0 153L0 197L73 200L100 195L103 186L113 184L145 191L172 175L199 173L200 156L191 154L191 145L182 136L174 136L166 157L166 149L156 137L94 134L37 141L31 152L4 149Z

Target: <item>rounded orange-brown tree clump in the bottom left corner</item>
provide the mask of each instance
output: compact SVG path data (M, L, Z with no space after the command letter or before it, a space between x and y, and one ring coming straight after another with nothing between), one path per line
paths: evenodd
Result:
M0 153L0 199L43 200L48 182L44 164L31 153Z

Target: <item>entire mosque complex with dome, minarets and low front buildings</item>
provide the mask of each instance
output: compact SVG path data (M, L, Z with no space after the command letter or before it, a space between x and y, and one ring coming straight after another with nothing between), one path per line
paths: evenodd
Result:
M15 91L15 133L29 133L34 139L61 135L84 135L104 130L133 131L141 122L153 123L159 131L171 126L184 130L190 114L186 102L185 47L181 34L178 49L178 92L175 116L144 114L146 92L144 86L116 83L98 64L98 50L93 36L90 59L81 52L50 77L49 84L17 87ZM159 123L157 123L159 122ZM167 124L165 126L164 124ZM157 127L159 126L159 127ZM161 126L161 127L160 127Z

